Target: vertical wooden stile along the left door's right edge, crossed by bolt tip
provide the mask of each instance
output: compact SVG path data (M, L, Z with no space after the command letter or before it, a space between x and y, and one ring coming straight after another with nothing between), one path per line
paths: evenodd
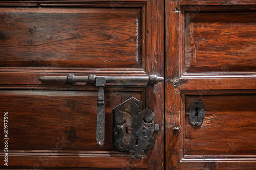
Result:
M147 74L164 76L163 22L164 1L150 0L147 3ZM159 124L159 132L153 150L148 152L148 169L164 169L164 82L147 86L146 105L154 110L154 121Z

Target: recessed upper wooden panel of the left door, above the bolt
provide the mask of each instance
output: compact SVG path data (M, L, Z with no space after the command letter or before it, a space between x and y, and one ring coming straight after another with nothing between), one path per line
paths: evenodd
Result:
M0 66L141 68L141 8L1 8Z

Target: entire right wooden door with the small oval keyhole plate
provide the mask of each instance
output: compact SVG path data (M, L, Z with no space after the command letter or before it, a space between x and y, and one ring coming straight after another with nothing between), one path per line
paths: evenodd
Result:
M166 169L256 168L255 5L166 1Z

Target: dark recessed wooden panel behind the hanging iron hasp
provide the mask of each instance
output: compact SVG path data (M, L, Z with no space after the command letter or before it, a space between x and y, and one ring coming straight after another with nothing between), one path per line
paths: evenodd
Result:
M106 92L105 145L99 148L95 141L97 92L0 92L1 110L9 113L9 147L12 150L50 150L61 141L65 143L61 150L114 150L112 108L129 98L129 93L122 99L122 93ZM135 97L141 100L141 95ZM1 114L3 116L4 112ZM4 147L3 143L0 146Z

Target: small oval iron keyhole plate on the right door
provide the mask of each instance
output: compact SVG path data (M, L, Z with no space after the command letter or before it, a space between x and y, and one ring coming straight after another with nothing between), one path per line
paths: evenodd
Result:
M189 107L189 120L194 126L200 126L204 120L204 104L201 100L195 99Z

